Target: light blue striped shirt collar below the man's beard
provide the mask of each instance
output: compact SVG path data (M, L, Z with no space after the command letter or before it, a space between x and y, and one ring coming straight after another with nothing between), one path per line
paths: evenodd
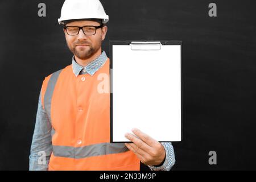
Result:
M102 51L101 55L98 56L95 60L91 61L86 67L82 67L80 64L76 63L75 56L72 57L72 68L73 73L77 77L82 69L85 69L86 73L89 73L90 76L93 76L98 69L104 65L105 61L108 59L106 52Z

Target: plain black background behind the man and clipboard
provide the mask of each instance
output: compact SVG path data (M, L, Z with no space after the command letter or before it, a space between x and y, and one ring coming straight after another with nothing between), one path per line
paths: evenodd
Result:
M46 17L38 4L46 3ZM0 1L0 169L27 170L44 77L71 64L64 1ZM172 170L256 169L255 1L101 0L109 40L183 42L183 141ZM208 5L217 5L217 17ZM209 165L208 152L217 152Z

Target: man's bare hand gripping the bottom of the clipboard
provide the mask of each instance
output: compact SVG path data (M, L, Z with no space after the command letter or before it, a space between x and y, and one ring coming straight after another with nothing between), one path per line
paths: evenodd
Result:
M166 156L163 145L139 129L133 129L132 131L137 137L126 133L125 137L133 142L125 143L126 147L133 151L142 163L148 166L158 166L163 163Z

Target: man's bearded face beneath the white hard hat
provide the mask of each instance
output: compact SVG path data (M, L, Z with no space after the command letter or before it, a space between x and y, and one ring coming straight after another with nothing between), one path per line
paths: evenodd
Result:
M66 26L100 26L100 23L90 20L79 20L67 23ZM68 48L79 59L89 59L101 48L101 43L105 39L108 27L97 28L96 34L85 35L80 29L79 34L75 36L68 35L64 30Z

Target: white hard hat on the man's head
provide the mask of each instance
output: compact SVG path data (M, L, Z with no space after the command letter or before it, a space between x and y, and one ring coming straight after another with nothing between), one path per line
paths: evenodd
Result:
M109 21L99 0L65 0L63 3L59 24L72 19L102 19L102 23Z

